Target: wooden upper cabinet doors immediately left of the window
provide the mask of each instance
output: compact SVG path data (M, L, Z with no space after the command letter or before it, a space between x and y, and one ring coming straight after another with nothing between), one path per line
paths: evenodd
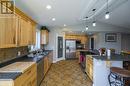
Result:
M19 46L35 44L36 25L27 18L19 18Z

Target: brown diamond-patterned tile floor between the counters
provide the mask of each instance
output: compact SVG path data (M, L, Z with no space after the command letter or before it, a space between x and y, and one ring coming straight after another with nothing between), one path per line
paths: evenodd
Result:
M66 60L51 66L41 86L92 86L92 82L85 77L77 60Z

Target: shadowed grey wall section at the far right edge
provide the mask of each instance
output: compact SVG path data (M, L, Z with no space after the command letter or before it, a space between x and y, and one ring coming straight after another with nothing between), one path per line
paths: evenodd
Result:
M130 51L130 34L122 34L121 49L123 51Z

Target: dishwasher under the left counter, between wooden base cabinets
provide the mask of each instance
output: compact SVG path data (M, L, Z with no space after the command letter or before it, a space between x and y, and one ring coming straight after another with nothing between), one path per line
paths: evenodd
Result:
M40 86L44 78L44 59L37 62L37 86Z

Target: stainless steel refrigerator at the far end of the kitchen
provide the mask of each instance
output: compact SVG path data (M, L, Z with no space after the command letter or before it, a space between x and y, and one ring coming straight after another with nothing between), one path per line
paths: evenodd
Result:
M76 40L66 40L66 59L76 58Z

